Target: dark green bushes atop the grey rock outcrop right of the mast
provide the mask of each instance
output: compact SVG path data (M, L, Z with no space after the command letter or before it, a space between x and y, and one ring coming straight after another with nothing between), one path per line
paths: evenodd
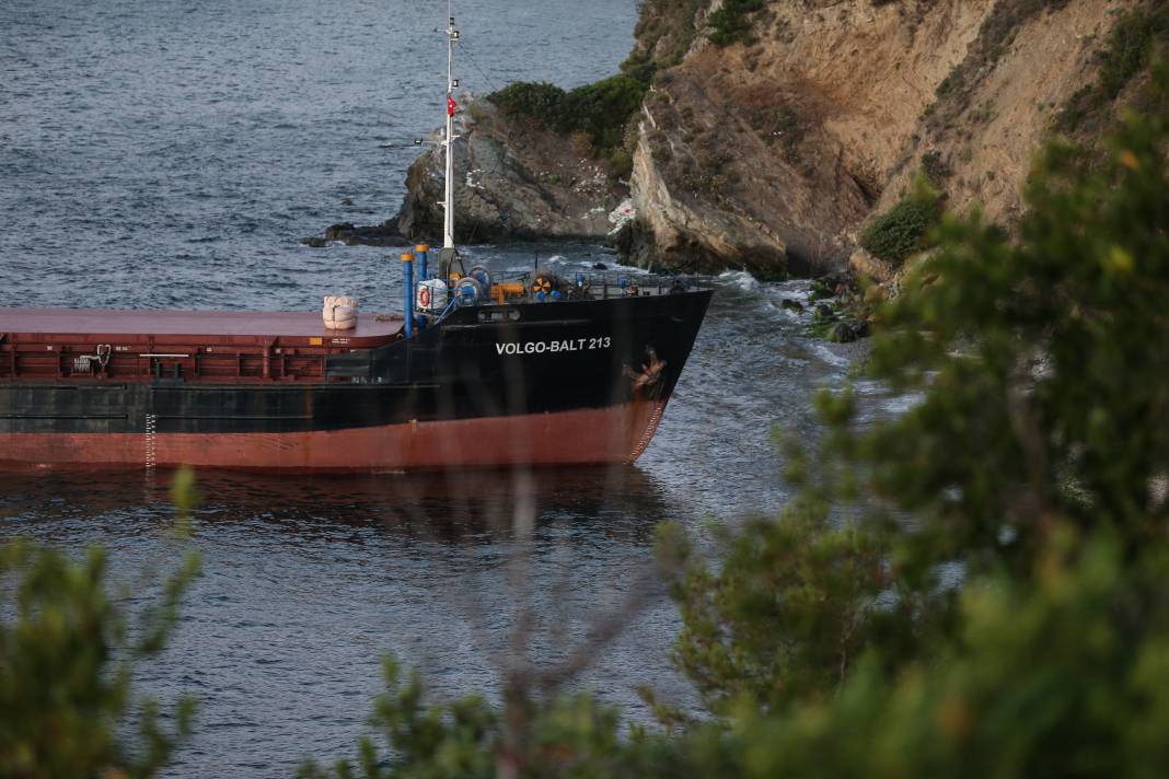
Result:
M618 75L565 91L519 82L487 96L509 116L534 119L561 134L587 133L599 151L622 144L625 124L645 97L645 82Z

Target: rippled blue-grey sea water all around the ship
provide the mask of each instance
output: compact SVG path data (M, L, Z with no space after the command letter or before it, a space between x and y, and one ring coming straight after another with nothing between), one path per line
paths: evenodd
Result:
M468 4L458 76L486 92L610 75L635 5ZM410 158L379 146L441 120L445 15L404 0L0 2L0 305L310 311L350 293L395 309L400 263L385 250L298 239L396 210ZM502 271L614 263L580 244L468 255ZM289 775L306 754L352 753L385 652L437 695L493 694L520 615L527 659L547 666L632 590L642 607L575 683L634 717L645 716L636 684L692 701L666 656L677 614L643 576L653 527L774 512L770 429L814 434L809 397L853 355L807 339L781 308L807 284L708 281L694 354L634 467L199 474L203 575L171 651L137 680L164 701L201 701L168 775ZM0 475L0 537L104 544L113 577L148 592L143 571L186 547L168 533L166 478Z

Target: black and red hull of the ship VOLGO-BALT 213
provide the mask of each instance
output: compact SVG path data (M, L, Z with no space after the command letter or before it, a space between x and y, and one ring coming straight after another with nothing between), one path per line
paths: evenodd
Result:
M143 355L151 361L136 373L27 378L19 355L35 352L19 349L35 347L15 339L15 368L0 376L0 468L632 462L662 420L708 301L707 291L469 307L411 339L321 357L312 382L207 381L194 336L173 356ZM50 346L70 364L68 343ZM126 354L116 340L113 348Z

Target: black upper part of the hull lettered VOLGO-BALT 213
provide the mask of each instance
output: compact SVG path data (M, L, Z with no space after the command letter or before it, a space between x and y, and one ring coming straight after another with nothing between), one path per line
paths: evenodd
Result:
M21 459L18 434L281 436L664 408L711 294L457 308L413 339L330 356L313 384L0 383L0 461Z

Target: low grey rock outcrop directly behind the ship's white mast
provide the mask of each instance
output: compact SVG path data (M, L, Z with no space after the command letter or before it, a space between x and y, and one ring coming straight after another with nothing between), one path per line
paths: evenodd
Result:
M628 197L587 140L506 119L489 100L463 96L456 114L455 234L461 243L526 238L604 241L610 214ZM442 237L443 155L433 146L410 166L397 216L411 238ZM616 216L614 216L616 220Z

